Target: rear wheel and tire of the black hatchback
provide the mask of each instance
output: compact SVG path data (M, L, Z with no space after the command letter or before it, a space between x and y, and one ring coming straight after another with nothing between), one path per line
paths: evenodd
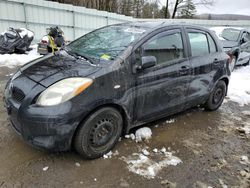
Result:
M209 111L217 110L221 106L226 96L226 92L226 83L223 80L220 80L210 93L209 98L205 103L205 109Z

